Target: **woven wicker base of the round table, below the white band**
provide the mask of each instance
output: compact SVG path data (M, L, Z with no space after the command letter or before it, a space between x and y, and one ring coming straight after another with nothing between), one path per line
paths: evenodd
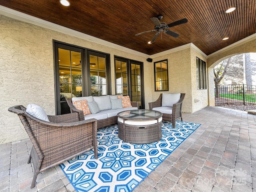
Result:
M118 123L118 137L125 142L146 144L160 141L162 138L162 121L158 124L135 126Z

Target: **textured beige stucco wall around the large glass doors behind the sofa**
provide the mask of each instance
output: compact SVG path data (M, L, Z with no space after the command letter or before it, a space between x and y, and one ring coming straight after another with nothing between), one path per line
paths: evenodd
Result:
M10 106L22 104L26 107L35 103L47 114L55 114L52 40L110 53L112 69L114 55L144 62L144 75L149 76L148 62L142 56L0 15L0 144L28 137L18 116L8 112ZM114 94L114 70L111 75ZM149 85L150 78L144 78L144 82ZM151 98L150 89L147 86L146 101Z

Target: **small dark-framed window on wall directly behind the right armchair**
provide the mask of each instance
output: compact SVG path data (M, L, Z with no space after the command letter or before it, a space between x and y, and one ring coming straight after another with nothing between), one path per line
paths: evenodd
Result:
M168 62L154 62L155 91L168 91Z

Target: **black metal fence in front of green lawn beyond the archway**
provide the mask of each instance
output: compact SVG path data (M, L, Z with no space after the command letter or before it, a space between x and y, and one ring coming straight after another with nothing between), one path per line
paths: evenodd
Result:
M251 105L256 104L256 86L218 85L215 92L215 105Z

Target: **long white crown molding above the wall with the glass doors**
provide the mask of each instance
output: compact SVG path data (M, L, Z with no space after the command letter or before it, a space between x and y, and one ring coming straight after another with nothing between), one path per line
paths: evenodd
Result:
M68 35L71 35L71 36L74 36L74 37L77 37L77 38L81 38L81 39L84 39L84 40L89 41L89 42L94 42L96 44L100 44L100 45L103 45L103 46L115 48L117 50L122 50L124 52L135 54L135 55L138 55L138 56L141 56L141 57L144 57L144 58L148 58L150 56L148 54L144 54L142 52L138 52L138 51L135 51L135 50L132 50L132 49L129 49L129 48L126 48L126 47L123 47L123 46L105 41L105 40L102 40L100 38L96 38L94 36L90 36L88 34L84 34L82 32L78 32L76 30L72 30L70 28L60 26L58 24L54 24L54 23L48 22L46 20L42 20L42 19L36 18L34 16L30 16L28 14L24 14L22 12L19 12L19 11L16 11L16 10L13 10L13 9L10 9L10 8L7 8L7 7L1 6L1 5L0 5L0 14L3 15L3 16L10 17L10 18L14 18L16 20L20 20L20 21L23 21L23 22L34 24L36 26L40 26L40 27L43 27L43 28L47 28L47 29L50 29L50 30L54 30L54 31L57 31L57 32L68 34Z

